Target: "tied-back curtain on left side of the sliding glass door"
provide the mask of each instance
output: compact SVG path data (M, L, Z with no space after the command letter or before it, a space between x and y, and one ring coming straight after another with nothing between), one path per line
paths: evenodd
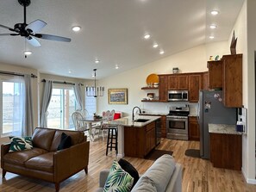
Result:
M47 108L51 101L52 90L53 90L53 81L46 80L44 93L42 97L40 127L47 127Z

